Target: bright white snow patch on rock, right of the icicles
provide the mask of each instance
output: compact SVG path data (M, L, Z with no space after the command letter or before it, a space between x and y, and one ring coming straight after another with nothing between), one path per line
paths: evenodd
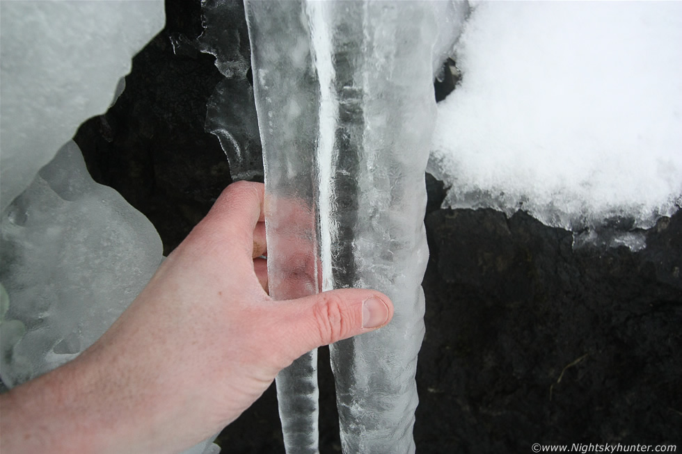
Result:
M682 204L682 3L481 2L438 105L445 206L580 229ZM637 241L627 243L637 246Z

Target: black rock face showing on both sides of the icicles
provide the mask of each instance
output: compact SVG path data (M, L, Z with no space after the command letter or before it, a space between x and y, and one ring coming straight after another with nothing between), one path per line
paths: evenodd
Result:
M166 3L166 29L134 58L125 92L76 140L93 177L152 220L167 253L232 180L204 131L223 76L193 44L199 2ZM639 252L574 250L571 232L523 212L442 210L443 183L427 175L427 188L418 453L679 444L682 212L649 229ZM319 356L321 451L340 452L327 350ZM273 387L219 443L224 452L283 452Z

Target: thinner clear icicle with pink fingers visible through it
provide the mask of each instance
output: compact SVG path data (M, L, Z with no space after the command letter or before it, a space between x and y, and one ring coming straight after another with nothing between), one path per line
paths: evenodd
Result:
M320 290L319 86L304 3L245 6L267 194L268 285L272 298L289 300ZM281 371L276 384L287 453L317 453L317 352Z

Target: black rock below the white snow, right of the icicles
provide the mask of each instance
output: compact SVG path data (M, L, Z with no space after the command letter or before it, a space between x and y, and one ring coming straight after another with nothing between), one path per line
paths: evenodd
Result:
M681 211L641 252L574 251L570 232L521 212L426 223L420 452L678 441Z

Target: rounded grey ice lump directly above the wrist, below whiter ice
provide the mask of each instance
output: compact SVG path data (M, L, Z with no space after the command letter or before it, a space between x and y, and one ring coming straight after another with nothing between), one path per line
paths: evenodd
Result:
M0 375L10 387L90 346L161 261L149 220L90 178L72 141L8 207L0 227L0 282L9 301L1 331L16 341L3 339L10 355L1 358Z

